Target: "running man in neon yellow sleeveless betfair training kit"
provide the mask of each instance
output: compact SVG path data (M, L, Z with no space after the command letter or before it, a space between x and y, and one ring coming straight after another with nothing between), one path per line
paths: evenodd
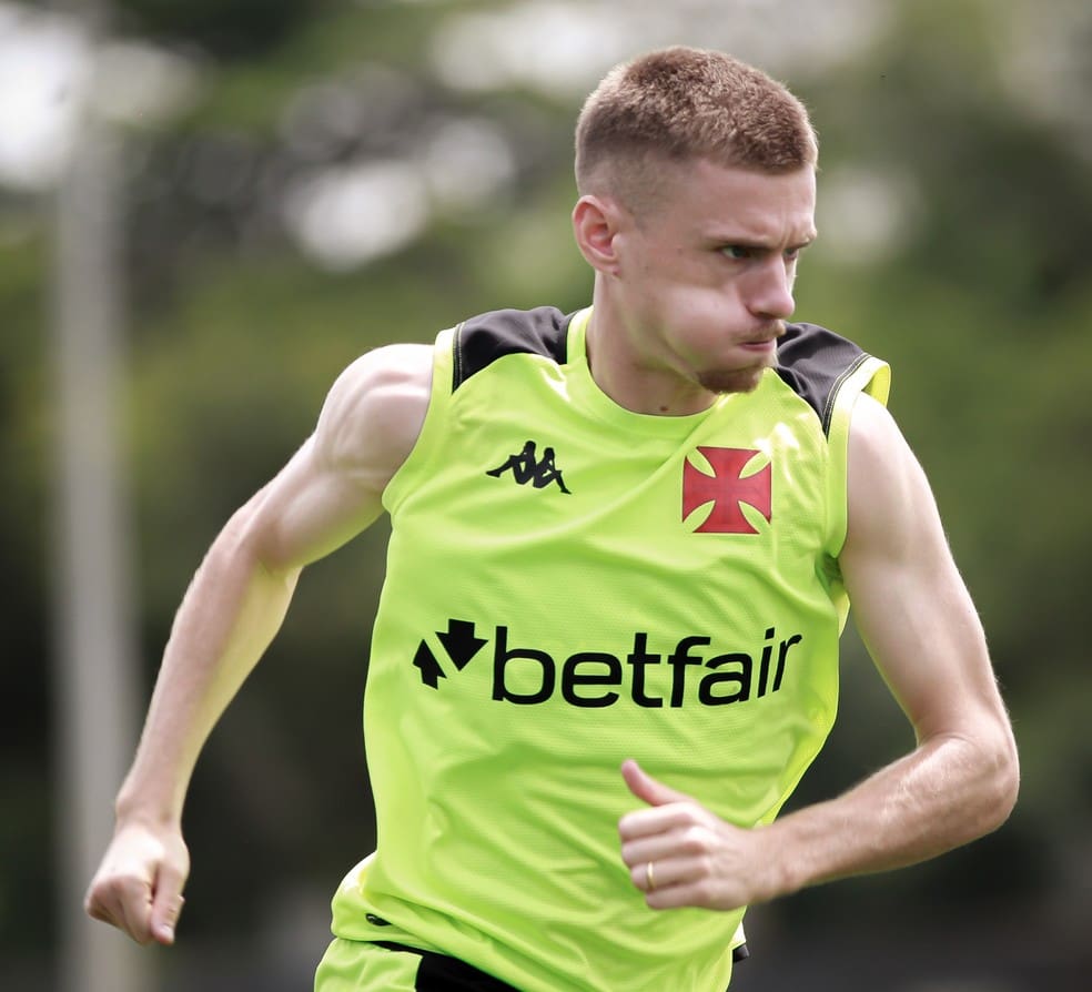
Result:
M1009 721L887 366L786 324L816 164L799 101L726 55L608 74L577 128L593 307L340 377L183 600L93 917L173 941L198 753L302 567L383 510L378 844L321 992L721 990L748 904L1003 822ZM833 720L847 597L917 747L776 820Z

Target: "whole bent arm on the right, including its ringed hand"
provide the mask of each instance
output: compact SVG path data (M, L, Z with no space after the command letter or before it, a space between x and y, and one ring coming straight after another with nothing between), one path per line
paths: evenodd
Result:
M1018 761L985 638L917 459L862 397L849 453L842 574L858 628L913 726L916 748L848 792L740 830L631 763L649 804L623 818L623 857L649 905L729 909L931 858L999 827Z

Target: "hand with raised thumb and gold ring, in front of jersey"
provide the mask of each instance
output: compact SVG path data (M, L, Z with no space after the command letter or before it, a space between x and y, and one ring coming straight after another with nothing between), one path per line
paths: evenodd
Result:
M761 831L726 823L646 775L636 761L625 761L621 776L629 791L648 803L626 813L618 832L621 860L651 909L730 910L774 894L766 888L770 854Z

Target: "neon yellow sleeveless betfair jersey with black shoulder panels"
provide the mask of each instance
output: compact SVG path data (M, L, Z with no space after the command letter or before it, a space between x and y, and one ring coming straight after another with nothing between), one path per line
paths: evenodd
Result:
M502 311L437 338L384 494L377 850L333 929L526 992L720 992L744 910L646 907L619 766L742 827L777 814L833 721L850 414L889 372L789 325L754 392L640 415L592 378L588 320Z

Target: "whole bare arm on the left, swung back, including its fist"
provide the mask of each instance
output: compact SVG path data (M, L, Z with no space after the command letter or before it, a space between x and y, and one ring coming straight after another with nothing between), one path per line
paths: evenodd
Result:
M273 639L303 567L367 527L419 434L432 351L393 345L337 379L315 433L213 541L174 620L87 910L172 943L189 874L182 807L198 756Z

